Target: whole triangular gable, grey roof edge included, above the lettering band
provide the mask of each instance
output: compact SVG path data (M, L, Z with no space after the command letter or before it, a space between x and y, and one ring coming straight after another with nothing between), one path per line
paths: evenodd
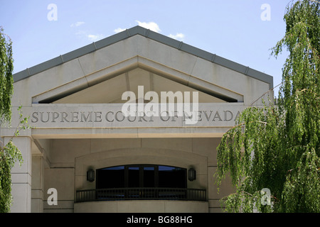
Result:
M122 103L138 86L199 92L200 102L247 102L272 77L142 27L112 35L14 74L33 104ZM35 85L36 84L36 85ZM259 94L260 95L260 94Z

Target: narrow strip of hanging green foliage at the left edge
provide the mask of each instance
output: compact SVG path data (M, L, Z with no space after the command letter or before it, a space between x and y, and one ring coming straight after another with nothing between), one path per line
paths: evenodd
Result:
M4 30L0 27L0 126L11 121L11 96L13 94L14 79L12 44ZM23 118L21 107L19 111L19 125L14 136L23 129L28 128L28 118ZM8 143L0 138L0 213L9 212L12 202L11 196L11 169L16 161L22 164L23 159L20 150L14 145L13 138Z

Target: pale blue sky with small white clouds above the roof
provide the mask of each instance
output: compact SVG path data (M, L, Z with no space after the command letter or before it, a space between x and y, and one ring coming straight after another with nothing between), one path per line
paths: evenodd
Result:
M270 74L274 86L281 82L287 53L276 60L270 48L284 36L289 0L1 1L0 26L13 41L14 72L140 25ZM53 21L50 4L57 6Z

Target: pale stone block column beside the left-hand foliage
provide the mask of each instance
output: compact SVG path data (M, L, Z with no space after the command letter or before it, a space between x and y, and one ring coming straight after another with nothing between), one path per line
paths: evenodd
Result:
M11 137L5 137L4 143L8 143L10 139ZM23 164L20 166L17 162L11 170L11 195L13 196L11 213L30 213L32 141L29 137L16 137L13 142L21 151Z

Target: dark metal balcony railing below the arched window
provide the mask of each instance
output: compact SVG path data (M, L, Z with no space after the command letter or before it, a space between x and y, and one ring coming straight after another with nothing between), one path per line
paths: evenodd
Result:
M188 200L206 201L206 189L180 188L118 188L78 190L75 202L114 200Z

